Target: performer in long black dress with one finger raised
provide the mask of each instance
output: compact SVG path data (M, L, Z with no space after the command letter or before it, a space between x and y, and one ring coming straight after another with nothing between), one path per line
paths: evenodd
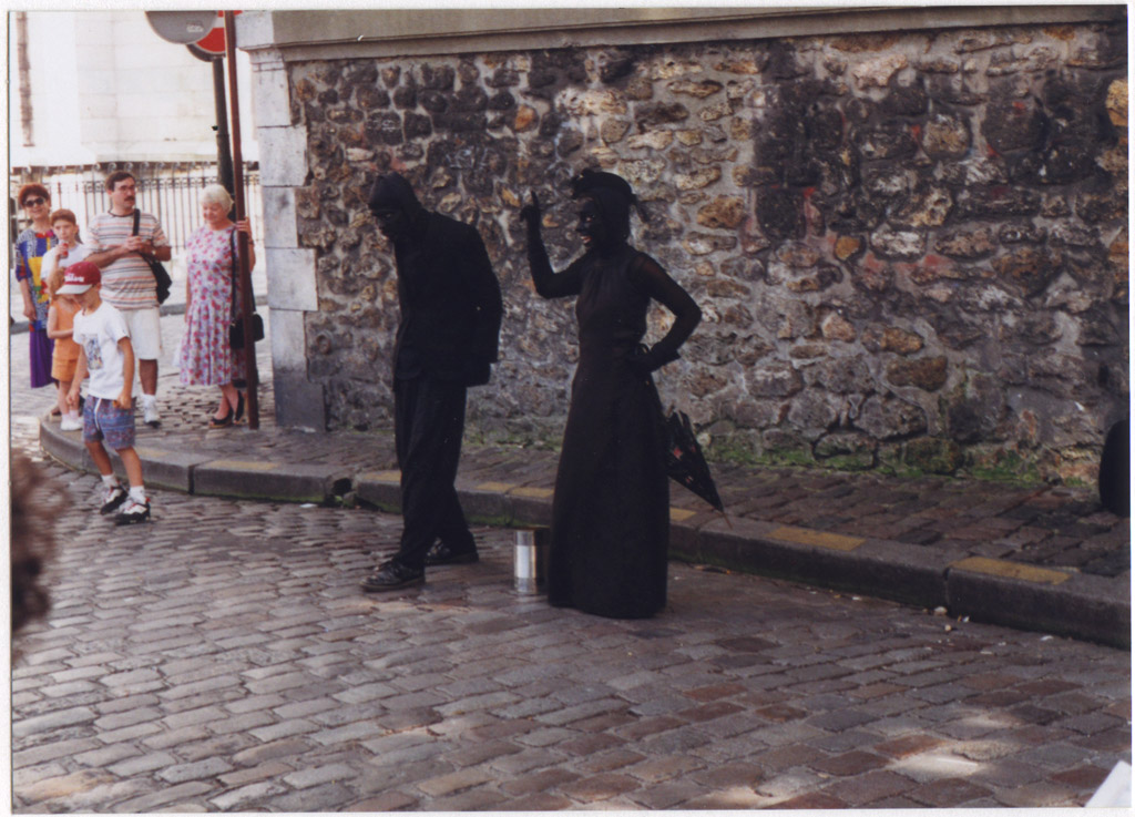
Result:
M627 182L585 171L572 183L586 252L555 273L536 195L521 212L543 297L575 295L579 364L553 499L548 600L612 618L646 618L666 604L670 490L664 427L650 372L678 359L701 320L693 300L630 246L634 195ZM650 301L674 313L641 345Z

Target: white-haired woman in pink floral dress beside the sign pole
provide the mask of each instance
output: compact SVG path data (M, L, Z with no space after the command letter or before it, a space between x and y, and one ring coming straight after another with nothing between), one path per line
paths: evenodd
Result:
M218 386L220 404L209 420L210 428L225 428L244 414L244 395L235 380L245 377L245 351L229 346L228 330L234 309L241 311L236 276L236 231L250 236L249 268L255 262L251 228L244 219L233 224L228 212L233 199L220 185L205 187L201 195L204 226L186 242L185 336L178 364L185 386Z

